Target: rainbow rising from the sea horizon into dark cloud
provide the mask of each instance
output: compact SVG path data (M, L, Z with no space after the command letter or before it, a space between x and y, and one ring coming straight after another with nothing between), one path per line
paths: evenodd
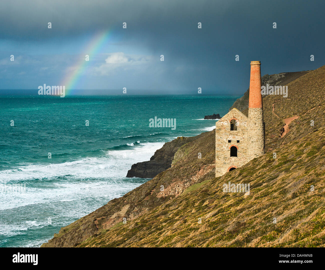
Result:
M103 44L105 44L105 42L107 41L109 34L110 31L97 33L86 46L85 50L83 50L84 54L80 56L79 61L73 66L72 71L67 72L67 75L60 84L62 86L65 86L66 95L73 94L75 86L77 85L78 81L80 80L82 74L84 73L89 63L88 61L85 61L85 55L88 54L90 58L92 55L98 53Z

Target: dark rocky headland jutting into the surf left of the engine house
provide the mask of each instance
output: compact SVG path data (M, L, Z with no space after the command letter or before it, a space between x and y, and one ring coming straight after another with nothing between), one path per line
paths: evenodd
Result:
M165 143L158 149L149 161L138 162L131 166L126 177L154 178L157 174L171 167L176 151L184 144L191 142L200 135L194 137L178 137Z

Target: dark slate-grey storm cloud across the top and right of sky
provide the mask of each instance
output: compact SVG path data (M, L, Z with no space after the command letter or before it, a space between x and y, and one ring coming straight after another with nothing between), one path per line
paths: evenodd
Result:
M57 42L111 30L121 44L149 48L157 62L163 54L165 61L157 63L165 66L162 76L184 90L202 87L203 92L241 94L248 88L251 60L262 62L263 74L315 69L325 63L320 1L59 0L1 5L4 40ZM52 23L51 31L47 22Z

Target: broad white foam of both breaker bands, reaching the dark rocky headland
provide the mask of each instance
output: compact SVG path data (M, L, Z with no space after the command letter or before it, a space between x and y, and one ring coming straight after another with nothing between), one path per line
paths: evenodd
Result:
M1 192L0 185L0 210L97 197L107 197L109 201L119 197L139 186L138 182L125 179L132 164L149 160L162 145L144 143L132 149L109 150L100 158L1 171L0 184L26 183L26 192Z

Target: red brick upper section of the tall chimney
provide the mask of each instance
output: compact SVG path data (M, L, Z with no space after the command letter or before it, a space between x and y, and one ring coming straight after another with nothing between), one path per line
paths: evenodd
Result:
M261 61L251 61L251 80L249 82L249 108L262 108Z

